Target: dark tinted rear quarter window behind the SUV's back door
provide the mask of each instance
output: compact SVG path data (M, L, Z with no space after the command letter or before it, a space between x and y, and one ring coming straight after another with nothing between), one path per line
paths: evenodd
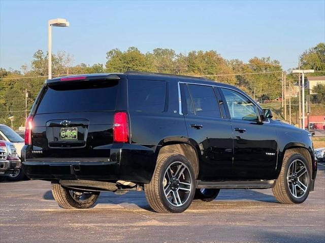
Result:
M165 109L166 82L157 80L128 80L128 109L161 112Z

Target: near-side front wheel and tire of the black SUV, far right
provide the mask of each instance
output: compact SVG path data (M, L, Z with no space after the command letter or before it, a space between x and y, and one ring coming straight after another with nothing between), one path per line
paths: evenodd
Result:
M302 171L304 173L300 176L304 180L303 182L300 182L301 181L300 178L298 181L296 181L296 176L289 176L289 174L291 174L291 171L293 171L294 161L298 161L298 163L296 164L296 168L294 170L295 173L299 172L299 170L302 170L303 166L306 168L306 172ZM295 150L287 151L283 159L280 175L275 182L275 186L272 188L273 194L276 197L276 199L281 204L303 203L307 199L310 191L310 185L311 185L310 171L311 171L310 163L302 154L296 152ZM296 174L301 174L302 172ZM294 195L295 190L293 190L293 187L296 188L297 196ZM305 192L299 187L305 188Z

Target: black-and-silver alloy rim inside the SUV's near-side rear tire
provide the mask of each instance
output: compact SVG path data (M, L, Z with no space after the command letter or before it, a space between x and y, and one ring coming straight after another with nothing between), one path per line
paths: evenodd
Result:
M187 166L180 161L171 164L165 171L163 188L171 205L184 205L192 189L192 178Z

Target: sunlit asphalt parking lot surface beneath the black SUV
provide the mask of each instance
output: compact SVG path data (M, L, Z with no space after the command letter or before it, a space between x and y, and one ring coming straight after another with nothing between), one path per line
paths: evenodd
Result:
M265 190L221 190L182 214L158 214L143 192L101 193L89 210L60 209L50 183L0 183L0 242L325 242L325 165L301 205Z

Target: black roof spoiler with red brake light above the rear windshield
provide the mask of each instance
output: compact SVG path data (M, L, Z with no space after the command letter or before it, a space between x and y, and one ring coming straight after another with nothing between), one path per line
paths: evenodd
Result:
M120 79L117 74L114 73L98 73L98 74L80 74L56 77L52 79L46 79L45 84L54 84L61 82L72 82L72 81L88 81L88 80L99 80L99 79Z

